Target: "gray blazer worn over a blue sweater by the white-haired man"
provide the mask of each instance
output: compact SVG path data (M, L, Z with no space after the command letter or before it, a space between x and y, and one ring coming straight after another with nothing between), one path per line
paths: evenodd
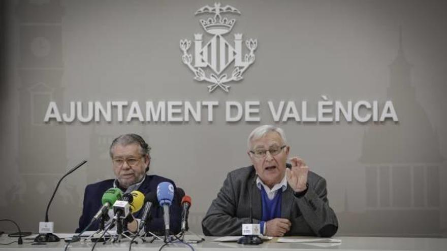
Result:
M202 221L205 235L242 235L242 224L250 223L251 193L253 223L260 222L262 198L254 177L252 165L228 173ZM292 223L290 231L285 235L330 237L337 232L338 222L326 197L326 180L309 171L307 183L307 192L300 197L294 195L289 185L282 193L281 218L289 219Z

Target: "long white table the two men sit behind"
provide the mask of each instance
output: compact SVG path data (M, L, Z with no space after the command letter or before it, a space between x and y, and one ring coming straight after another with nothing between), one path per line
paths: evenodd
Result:
M185 239L188 239L186 236ZM198 244L190 244L187 246L183 243L173 243L166 245L163 250L345 250L345 251L446 251L447 238L404 238L404 237L345 237L334 236L332 239L340 240L340 242L306 242L306 243L278 243L277 238L265 241L263 244L257 246L240 245L236 242L216 242L213 241L216 237L205 237L205 241ZM307 238L309 239L309 238ZM15 241L17 238L10 238L7 236L0 237L1 243L8 243ZM24 244L18 245L13 243L11 245L0 245L1 250L64 250L66 243L62 240L60 242L47 243L46 245L31 245L31 240L24 239ZM98 243L95 250L129 250L129 240L123 240L120 243ZM133 244L132 250L158 250L163 241L156 240L153 243ZM91 250L92 242L81 241L70 244L68 250L72 251L87 251ZM193 248L191 248L193 247Z

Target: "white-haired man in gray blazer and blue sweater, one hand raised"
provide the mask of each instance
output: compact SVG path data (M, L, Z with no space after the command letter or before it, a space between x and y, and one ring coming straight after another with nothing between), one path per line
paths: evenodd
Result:
M227 175L202 221L203 233L242 235L242 224L250 223L251 214L263 235L333 236L338 222L329 206L326 180L298 157L286 163L289 152L281 128L254 129L247 152L252 165Z

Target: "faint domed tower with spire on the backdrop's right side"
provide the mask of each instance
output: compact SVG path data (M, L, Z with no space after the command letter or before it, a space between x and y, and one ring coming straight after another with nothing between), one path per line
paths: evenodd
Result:
M387 96L399 124L371 124L363 136L367 233L436 234L440 231L438 136L411 85L411 67L402 47L390 64Z

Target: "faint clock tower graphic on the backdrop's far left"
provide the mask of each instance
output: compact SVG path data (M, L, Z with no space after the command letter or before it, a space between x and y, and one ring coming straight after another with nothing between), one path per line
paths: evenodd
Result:
M19 20L20 59L17 71L20 79L19 93L19 166L20 180L9 203L17 215L22 216L22 229L37 229L36 219L43 220L47 199L55 182L65 173L67 166L66 128L58 124L44 124L43 118L49 101L63 103L61 78L63 8L59 0L25 1L16 5ZM62 184L56 197L56 212L67 204L74 205L73 195ZM15 189L12 189L15 193ZM29 202L33 207L29 207ZM65 205L64 205L65 204ZM60 209L60 210L58 210ZM50 219L51 220L51 219Z

